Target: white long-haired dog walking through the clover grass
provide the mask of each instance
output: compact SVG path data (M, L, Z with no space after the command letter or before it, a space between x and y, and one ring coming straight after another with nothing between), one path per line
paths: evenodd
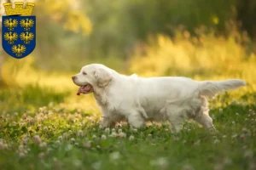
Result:
M148 120L169 121L179 131L184 119L214 128L208 115L208 99L224 90L245 86L239 79L198 82L186 77L124 76L105 65L85 65L72 77L79 94L93 93L102 109L101 127L128 120L142 127Z

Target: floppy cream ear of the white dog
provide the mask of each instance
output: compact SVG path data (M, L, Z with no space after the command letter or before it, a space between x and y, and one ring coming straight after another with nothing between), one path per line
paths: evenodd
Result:
M98 87L106 87L109 82L112 80L112 75L109 71L106 71L102 68L94 71L94 77L96 78L96 83Z

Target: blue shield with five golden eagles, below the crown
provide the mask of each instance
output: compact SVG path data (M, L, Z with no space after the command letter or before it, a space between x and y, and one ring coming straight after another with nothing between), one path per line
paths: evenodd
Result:
M36 16L3 16L2 45L10 56L21 59L36 47Z

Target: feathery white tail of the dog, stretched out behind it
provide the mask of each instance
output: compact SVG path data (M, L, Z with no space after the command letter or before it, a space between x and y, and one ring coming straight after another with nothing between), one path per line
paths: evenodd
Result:
M207 98L212 99L218 93L245 86L246 83L247 82L240 79L230 79L217 82L203 81L199 84L199 91L202 96L206 96Z

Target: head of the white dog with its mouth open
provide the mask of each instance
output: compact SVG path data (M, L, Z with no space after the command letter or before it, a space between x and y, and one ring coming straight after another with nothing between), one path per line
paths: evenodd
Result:
M108 86L113 79L113 71L105 65L85 65L72 79L80 87L78 94L90 94L94 88Z

